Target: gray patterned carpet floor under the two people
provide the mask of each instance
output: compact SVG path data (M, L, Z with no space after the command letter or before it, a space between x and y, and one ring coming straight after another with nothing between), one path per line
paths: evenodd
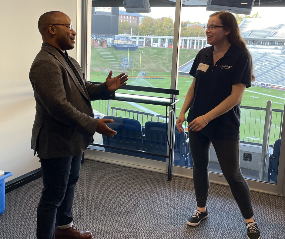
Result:
M5 195L1 239L35 238L37 179ZM261 239L285 238L285 198L251 192ZM145 170L85 160L76 186L74 224L100 239L246 239L243 217L230 188L211 184L210 216L187 225L196 209L193 181Z

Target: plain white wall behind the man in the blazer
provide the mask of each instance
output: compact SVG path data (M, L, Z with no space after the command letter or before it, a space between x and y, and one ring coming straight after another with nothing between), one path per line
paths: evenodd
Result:
M35 99L29 81L31 64L42 44L39 17L62 11L76 31L81 29L76 28L81 23L80 10L81 0L0 1L0 170L13 173L6 182L40 167L30 146ZM70 56L81 56L80 42L68 52Z

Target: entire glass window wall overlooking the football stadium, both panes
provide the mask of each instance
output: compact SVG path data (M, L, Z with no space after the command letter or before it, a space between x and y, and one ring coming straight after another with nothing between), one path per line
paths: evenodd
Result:
M170 88L172 74L172 54L176 53L173 52L172 48L174 39L172 31L174 31L173 24L175 10L173 10L173 12L170 11L169 13L170 8L159 7L157 9L158 11L160 11L159 15L153 15L153 13L143 14L143 16L140 15L140 17L138 17L138 25L136 25L136 27L138 27L139 25L141 26L144 19L148 17L150 17L151 19L148 18L146 20L150 22L153 21L153 23L155 24L159 24L157 21L154 21L158 18L160 18L162 21L165 21L166 18L172 16L172 21L170 19L167 19L169 20L167 22L170 22L170 25L167 26L167 29L162 29L163 24L161 25L162 27L156 28L150 25L150 27L147 27L147 29L143 29L142 26L138 32L138 29L136 29L136 27L129 25L131 23L131 18L130 21L128 20L129 24L124 24L121 15L121 22L117 22L119 24L111 24L115 26L119 25L119 28L113 29L111 32L108 33L108 35L106 32L104 32L104 30L108 30L109 25L104 27L104 29L100 29L99 31L99 28L96 28L98 25L96 23L102 22L102 25L104 25L104 21L92 22L93 24L91 29L92 35L94 35L94 37L92 37L91 44L89 43L89 45L92 45L91 52L89 52L91 56L91 64L89 64L89 79L91 81L105 81L109 70L112 69L114 76L120 74L120 72L127 72L127 74L129 75L128 85L130 86ZM262 8L254 10L253 8L252 14L259 11L261 12L261 9ZM120 10L123 11L123 9ZM155 8L152 8L152 10L155 10ZM112 12L114 11L115 8L112 8ZM203 7L199 9L195 8L195 12L197 12L198 14L194 16L195 19L190 19L188 17L190 15L193 16L193 14L189 14L191 13L191 11L193 11L192 8L183 6L180 16L180 18L183 20L183 23L185 24L181 25L180 35L180 53L178 66L179 74L177 74L179 89L178 99L180 100L180 102L177 104L176 116L179 115L189 86L193 81L193 77L189 76L189 70L191 69L193 59L195 59L196 55L201 49L204 49L209 46L207 44L205 32L202 28L203 25L205 25L205 23L207 22L209 14L211 14L211 12L206 11L206 9ZM255 29L252 29L252 26L254 24L248 23L260 21L260 19L250 17L248 18L241 15L241 19L244 18L244 21L240 27L242 36L249 32L249 30L252 31L250 34L247 34L245 40L246 45L251 55L253 56L253 65L256 81L253 82L252 87L250 89L245 90L243 100L241 102L240 167L244 176L247 179L252 179L256 181L260 180L269 182L271 184L276 184L277 182L275 177L276 175L274 175L274 170L276 172L277 167L273 168L273 171L269 171L269 156L273 154L273 145L281 137L283 126L282 120L284 119L285 63L283 56L285 52L284 47L282 46L284 46L285 42L285 26L283 26L283 23L281 22L279 24L278 31L276 31L276 33L274 33L272 37L269 37L269 34L271 33L272 29L275 29L276 25L278 24L275 24L277 19L275 17L272 17L277 14L274 15L274 13L271 12L267 13L267 15L269 16L269 18L264 21L266 24L255 24ZM119 9L117 16L119 16ZM124 15L124 19L126 19L126 15ZM191 29L191 22L200 22L197 24L198 26L195 31ZM186 29L187 27L188 29ZM123 48L127 48L128 50L125 51ZM133 49L133 51L129 49ZM118 93L126 93L126 91L119 90ZM146 96L153 95L153 93L149 92L134 92L132 90L129 90L128 93ZM266 107L267 100L272 101L273 118L272 123L270 125L270 135L266 138L263 129L265 125L264 108ZM166 117L164 116L165 109L161 109L159 108L159 106L113 100L98 100L92 102L92 105L95 115L97 117L113 115L124 118L135 118L139 121L142 127L142 135L144 135L145 133L145 131L143 130L145 130L144 127L147 121L166 121ZM186 132L186 135L184 134L186 142L188 133L187 125L188 124L185 123L184 126ZM101 142L101 144L103 143L102 136L97 135L94 137L97 140L96 142ZM263 142L265 142L267 139L269 140L269 147L267 147L268 153L265 159L263 159L264 161L261 161L262 145ZM101 148L102 147L103 146L101 146ZM108 151L108 149L105 150ZM126 152L122 153L128 154ZM140 162L143 162L145 158L149 158L149 156L142 155L138 157L143 157L141 158L141 161L137 162L138 165ZM263 172L260 171L261 163L265 163L265 170L263 170ZM178 159L176 158L176 160L174 161L174 165L182 166L185 172L191 172L190 168L192 165L190 155L188 154L187 157L181 157ZM175 168L178 169L180 167ZM221 169L213 148L211 148L210 151L209 171L221 173ZM283 173L283 171L281 173ZM260 185L259 182L256 183L256 185ZM268 185L267 187L271 187Z

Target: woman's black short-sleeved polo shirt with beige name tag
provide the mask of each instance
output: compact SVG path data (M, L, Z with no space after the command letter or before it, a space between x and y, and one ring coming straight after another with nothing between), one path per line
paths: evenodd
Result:
M251 86L250 54L236 45L231 45L215 66L214 46L201 49L189 74L196 77L194 95L190 103L187 122L204 115L230 96L236 83ZM213 119L200 133L211 139L239 140L240 103L223 115Z

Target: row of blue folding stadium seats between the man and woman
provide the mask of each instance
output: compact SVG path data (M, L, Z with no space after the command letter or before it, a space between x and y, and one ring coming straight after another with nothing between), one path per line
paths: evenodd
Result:
M120 153L135 157L144 157L153 160L166 161L163 156L153 156L145 153L136 153L127 150L141 150L149 153L165 155L167 153L166 125L162 122L147 121L142 127L138 120L104 116L104 119L113 119L113 123L107 126L116 130L114 137L103 135L103 144L112 146L105 147L105 151ZM189 153L189 143L186 141L186 133L175 129L174 165L192 167L192 157Z

